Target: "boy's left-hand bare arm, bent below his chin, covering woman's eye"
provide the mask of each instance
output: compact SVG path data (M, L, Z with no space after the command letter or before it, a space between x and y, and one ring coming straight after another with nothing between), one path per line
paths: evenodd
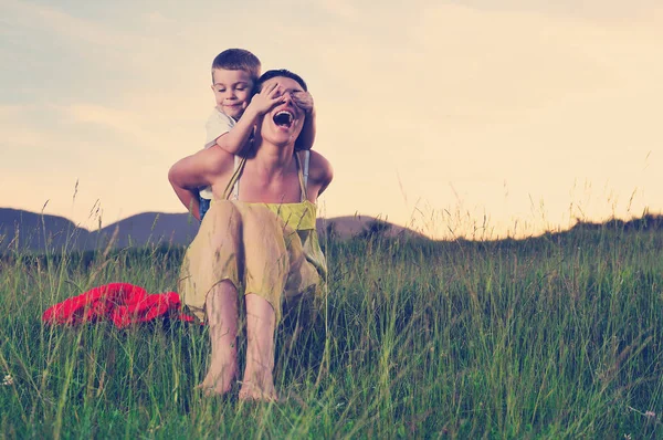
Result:
M240 121L232 129L217 138L217 145L231 155L238 155L253 134L257 121L274 105L283 101L278 84L263 88L254 95Z

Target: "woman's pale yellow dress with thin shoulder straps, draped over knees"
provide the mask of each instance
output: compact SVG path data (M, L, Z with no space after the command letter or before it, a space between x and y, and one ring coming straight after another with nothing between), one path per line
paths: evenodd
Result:
M316 206L306 198L308 158L295 154L302 201L236 200L245 159L236 163L224 200L212 200L180 271L179 293L189 312L204 319L210 290L230 281L238 291L264 297L281 319L283 302L325 292L327 264L316 231ZM232 198L234 193L235 199Z

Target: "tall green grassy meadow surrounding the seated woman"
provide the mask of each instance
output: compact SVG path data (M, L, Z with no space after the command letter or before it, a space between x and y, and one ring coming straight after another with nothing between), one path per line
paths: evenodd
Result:
M9 252L0 436L663 438L663 231L376 234L325 248L322 313L296 336L296 323L278 327L278 404L196 389L204 327L41 323L50 305L101 284L175 290L182 249Z

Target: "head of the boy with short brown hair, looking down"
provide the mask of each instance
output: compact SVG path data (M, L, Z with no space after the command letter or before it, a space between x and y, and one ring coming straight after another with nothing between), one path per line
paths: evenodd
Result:
M228 49L212 62L212 91L217 105L228 116L239 119L251 102L260 76L257 56L243 49Z

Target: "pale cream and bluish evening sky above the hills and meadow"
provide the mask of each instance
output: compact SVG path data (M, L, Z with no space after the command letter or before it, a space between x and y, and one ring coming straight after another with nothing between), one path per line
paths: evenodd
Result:
M308 83L323 217L495 239L663 212L654 0L1 0L0 207L185 212L168 169L229 48Z

